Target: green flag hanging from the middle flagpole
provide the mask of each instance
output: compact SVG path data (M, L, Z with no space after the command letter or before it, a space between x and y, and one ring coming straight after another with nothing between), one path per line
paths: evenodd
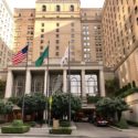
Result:
M41 56L35 61L35 66L41 66L44 59L49 57L49 46L44 50Z

